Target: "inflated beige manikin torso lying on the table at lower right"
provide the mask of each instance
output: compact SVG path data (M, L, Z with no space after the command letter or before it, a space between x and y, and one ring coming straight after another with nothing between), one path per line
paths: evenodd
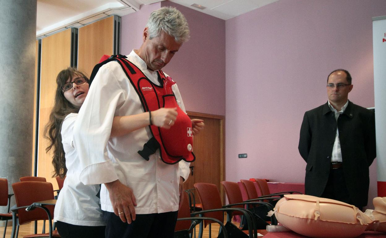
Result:
M356 237L376 223L353 205L303 194L284 195L273 213L286 228L320 238Z

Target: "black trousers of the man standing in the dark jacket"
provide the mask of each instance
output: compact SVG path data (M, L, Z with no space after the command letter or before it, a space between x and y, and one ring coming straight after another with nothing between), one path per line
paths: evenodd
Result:
M343 174L343 168L330 169L327 185L321 197L338 200L344 203L352 204L362 210L362 206L354 204L347 190L346 181Z

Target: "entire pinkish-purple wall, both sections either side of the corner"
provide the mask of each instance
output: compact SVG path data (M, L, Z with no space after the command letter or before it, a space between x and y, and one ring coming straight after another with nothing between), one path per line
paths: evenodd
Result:
M349 70L350 100L374 106L371 17L385 15L384 0L280 0L227 21L168 1L142 5L122 17L122 54L141 46L149 14L165 5L185 15L191 39L164 70L187 110L225 115L227 181L304 182L300 125L327 101L330 71Z

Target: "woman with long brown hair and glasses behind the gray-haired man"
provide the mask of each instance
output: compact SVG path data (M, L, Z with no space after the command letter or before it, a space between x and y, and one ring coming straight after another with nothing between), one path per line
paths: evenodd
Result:
M45 128L52 150L54 176L64 177L54 210L54 221L62 238L104 238L105 223L100 209L99 185L79 181L78 155L73 145L73 127L88 93L88 78L76 68L67 68L56 78L54 107Z

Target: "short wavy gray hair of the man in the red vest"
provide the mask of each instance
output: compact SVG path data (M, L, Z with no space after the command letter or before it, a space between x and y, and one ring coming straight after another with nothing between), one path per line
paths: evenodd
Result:
M146 27L149 39L159 36L163 30L174 37L174 40L183 43L189 40L189 27L185 16L174 7L161 7L150 14Z

